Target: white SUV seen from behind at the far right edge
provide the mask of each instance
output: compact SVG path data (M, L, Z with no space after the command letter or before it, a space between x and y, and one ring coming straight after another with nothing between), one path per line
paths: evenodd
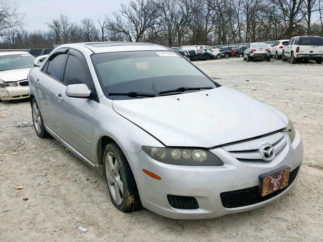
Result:
M304 61L314 60L317 64L323 61L323 37L320 36L296 36L284 46L282 61L291 60L295 64L299 59Z

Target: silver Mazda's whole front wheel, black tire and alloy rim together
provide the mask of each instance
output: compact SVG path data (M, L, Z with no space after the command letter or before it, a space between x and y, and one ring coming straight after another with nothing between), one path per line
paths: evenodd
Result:
M105 146L103 167L113 205L125 213L140 209L140 197L130 165L124 153L114 142Z

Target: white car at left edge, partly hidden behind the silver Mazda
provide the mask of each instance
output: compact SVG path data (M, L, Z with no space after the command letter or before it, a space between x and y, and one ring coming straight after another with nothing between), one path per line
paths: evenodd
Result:
M28 73L34 67L34 59L28 52L0 52L1 101L29 97Z

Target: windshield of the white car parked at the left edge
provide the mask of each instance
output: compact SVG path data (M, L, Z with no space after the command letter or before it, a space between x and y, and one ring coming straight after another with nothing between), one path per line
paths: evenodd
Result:
M30 54L12 54L0 56L0 71L34 67L34 59Z

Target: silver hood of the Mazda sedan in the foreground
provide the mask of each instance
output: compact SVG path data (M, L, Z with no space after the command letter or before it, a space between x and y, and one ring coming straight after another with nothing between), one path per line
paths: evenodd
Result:
M228 87L114 100L113 108L166 146L210 148L286 127L264 103Z

